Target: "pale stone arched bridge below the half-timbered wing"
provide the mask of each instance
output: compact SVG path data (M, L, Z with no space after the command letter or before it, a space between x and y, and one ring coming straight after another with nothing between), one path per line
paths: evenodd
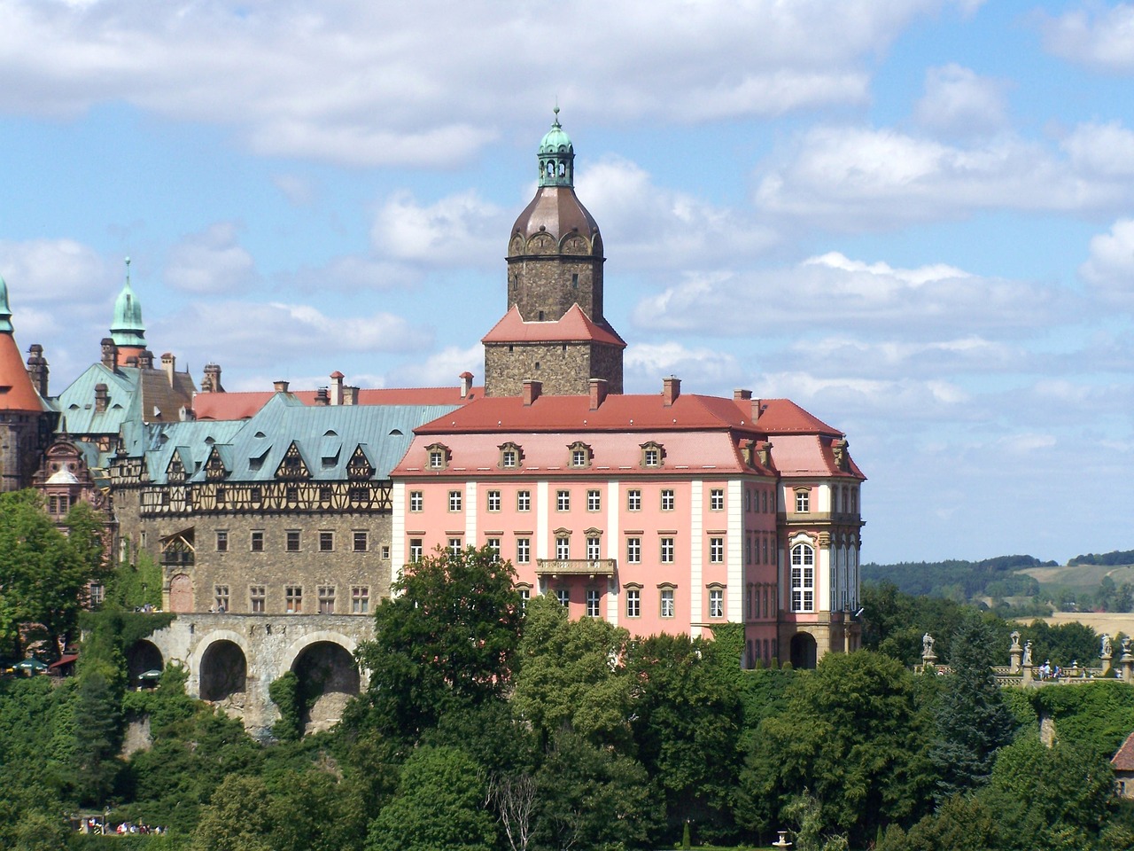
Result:
M178 615L127 648L130 684L138 684L146 671L179 665L188 671L192 697L219 706L243 719L249 733L266 738L280 715L268 686L293 671L301 689L314 697L307 731L324 730L366 686L354 652L373 627L371 615Z

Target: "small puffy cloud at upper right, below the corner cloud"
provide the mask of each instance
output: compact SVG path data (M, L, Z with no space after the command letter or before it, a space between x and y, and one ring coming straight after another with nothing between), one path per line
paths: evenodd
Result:
M1005 85L970 68L947 65L925 73L925 94L914 115L929 129L970 136L1006 124Z

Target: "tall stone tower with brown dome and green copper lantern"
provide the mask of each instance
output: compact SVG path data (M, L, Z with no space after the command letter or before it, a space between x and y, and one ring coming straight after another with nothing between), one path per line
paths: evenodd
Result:
M626 344L602 315L602 236L575 196L575 149L556 119L540 143L535 197L508 241L508 312L482 339L484 394L623 391Z

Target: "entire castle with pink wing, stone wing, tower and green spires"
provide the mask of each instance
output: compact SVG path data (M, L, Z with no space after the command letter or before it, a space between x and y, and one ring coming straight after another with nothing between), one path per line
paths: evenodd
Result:
M99 362L51 397L42 348L20 362L0 283L0 487L34 485L57 516L96 502L116 556L152 554L164 607L201 624L349 623L434 547L490 546L523 595L573 616L638 634L743 624L745 667L856 649L864 475L845 435L743 389L669 377L623 393L574 157L557 110L508 235L483 388L464 373L366 390L336 371L316 391L230 394L209 364L198 391L174 355L155 365L127 275Z

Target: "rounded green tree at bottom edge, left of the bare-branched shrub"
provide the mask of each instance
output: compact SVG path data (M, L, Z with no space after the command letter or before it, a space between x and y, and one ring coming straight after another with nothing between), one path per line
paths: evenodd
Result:
M370 826L367 851L491 851L480 766L458 748L416 749L398 794Z

